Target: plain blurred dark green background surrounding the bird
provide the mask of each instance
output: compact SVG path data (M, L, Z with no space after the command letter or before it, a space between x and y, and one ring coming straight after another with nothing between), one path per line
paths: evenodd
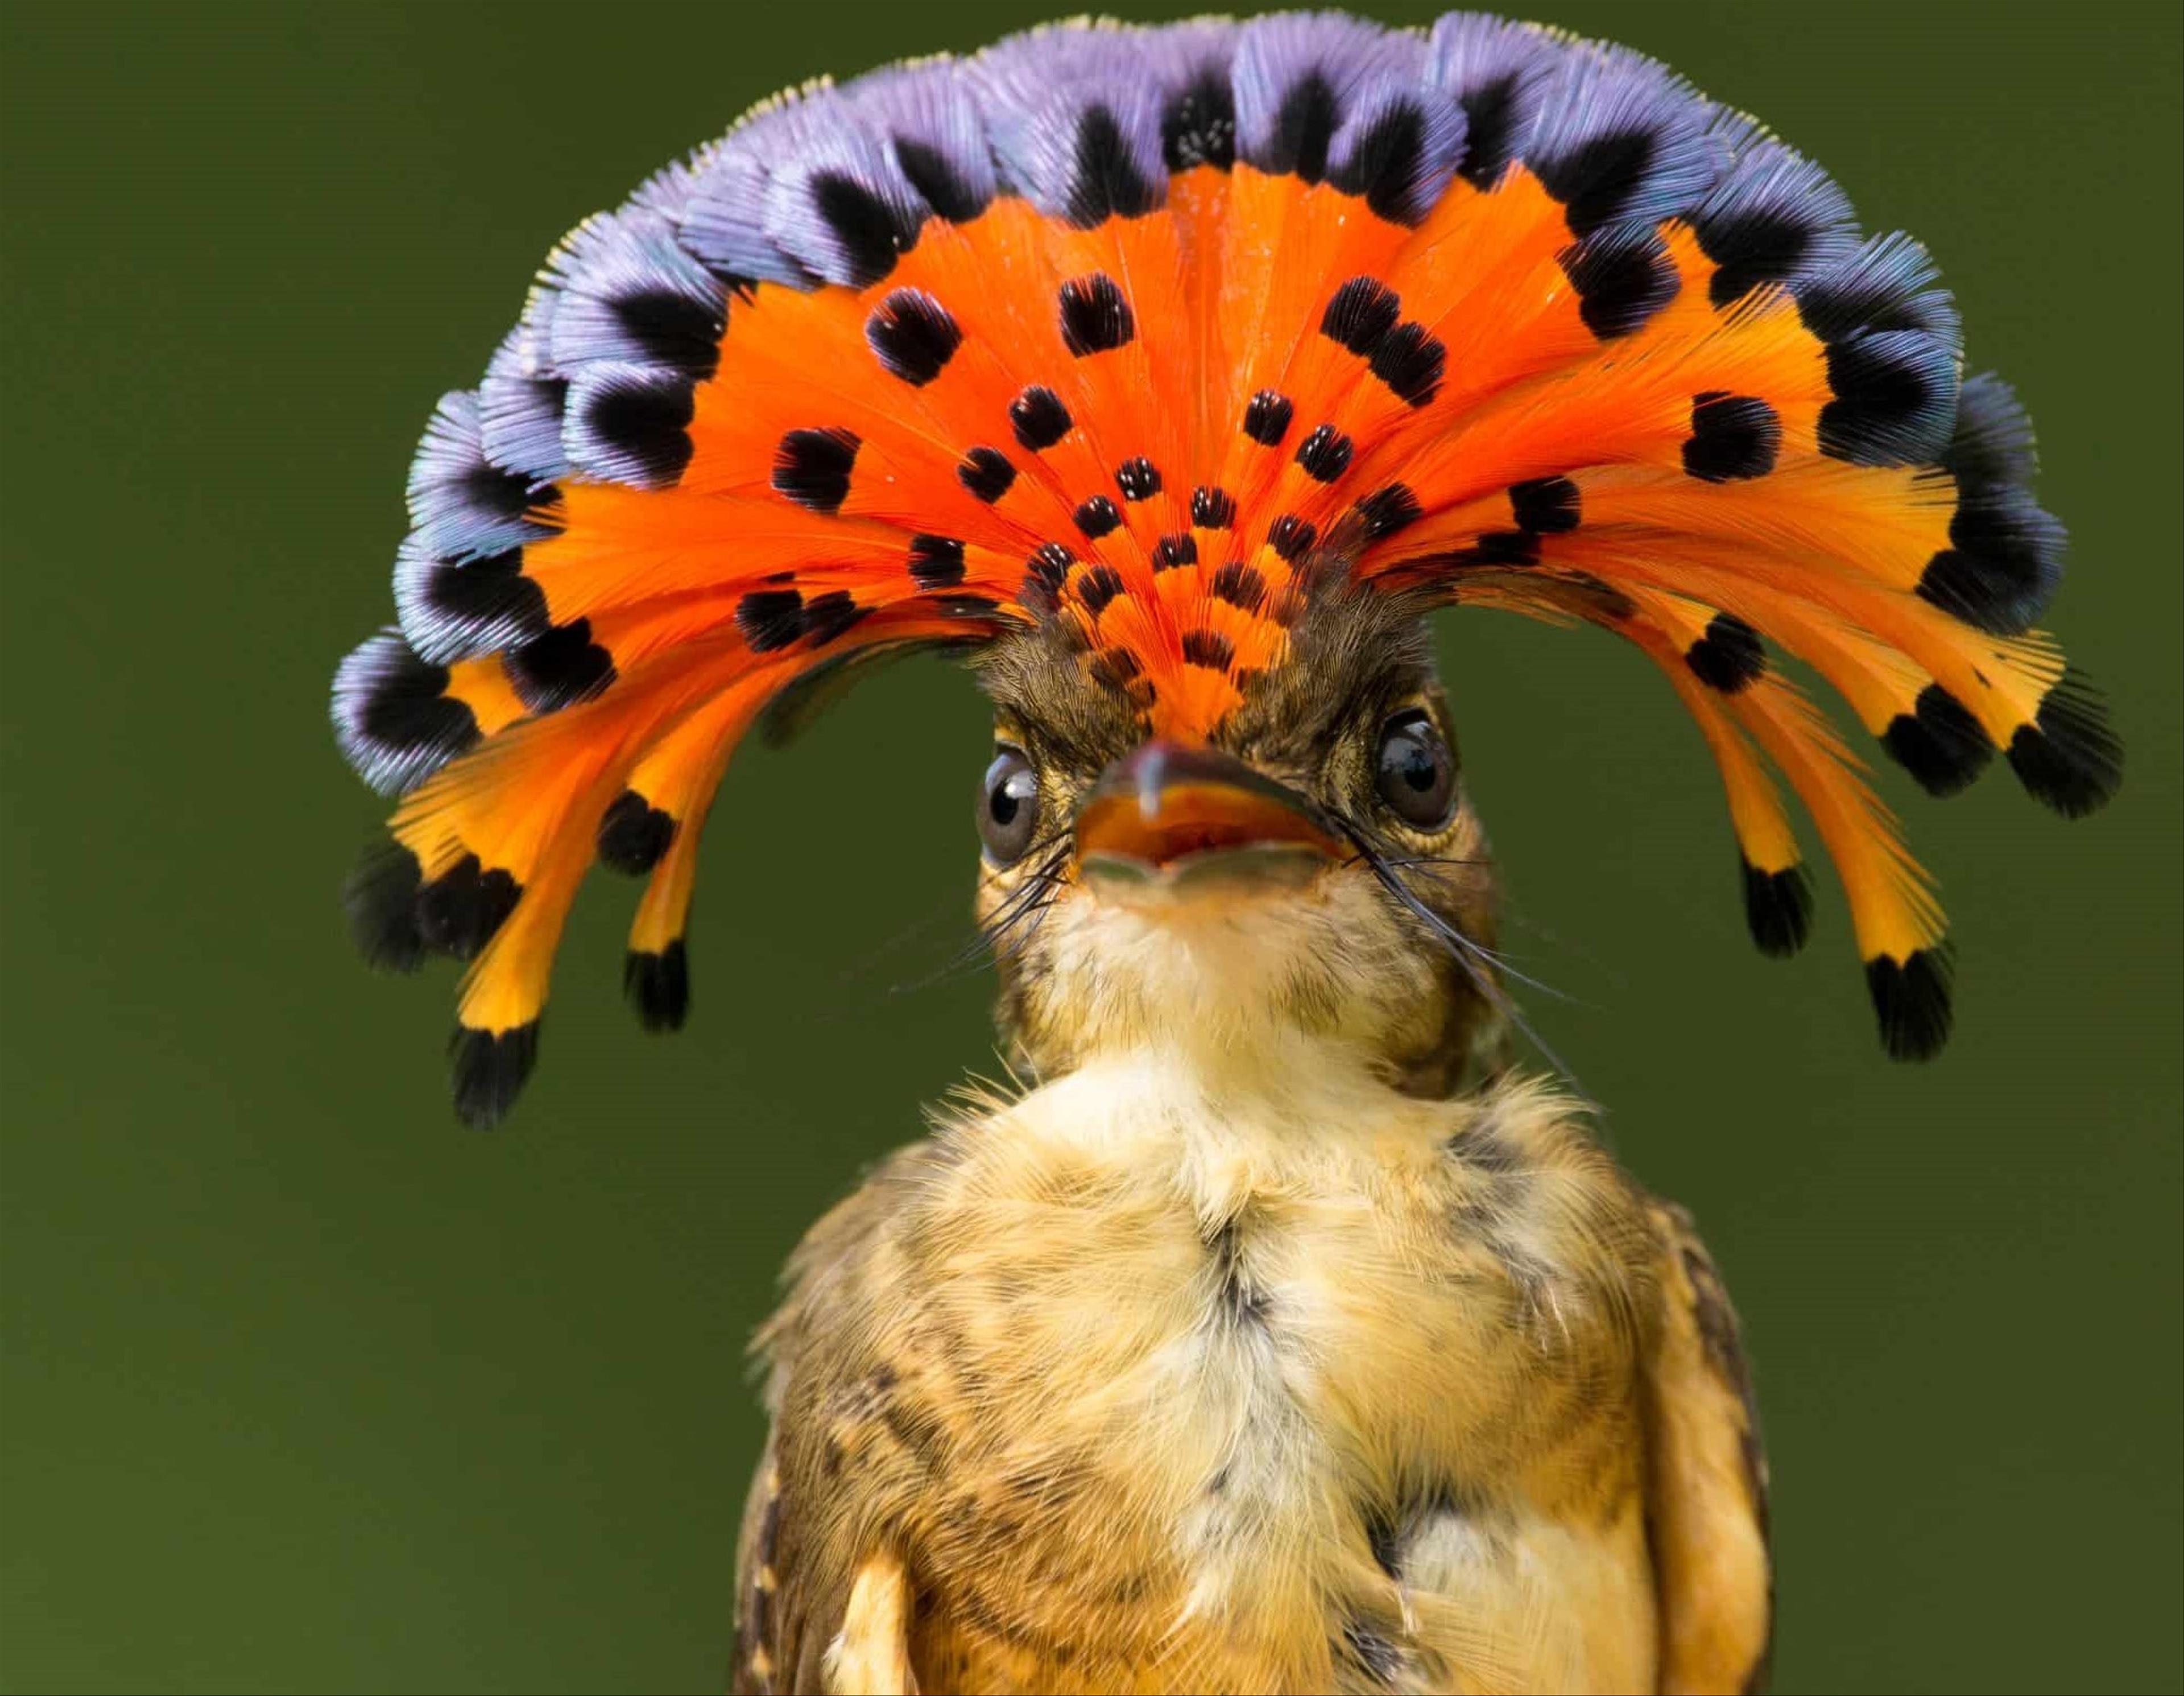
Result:
M1393 13L1393 9L1391 9ZM1428 13L1415 11L1411 17ZM1883 787L1961 1027L1887 1064L1839 903L1741 935L1660 680L1450 619L1538 1001L1701 1217L1776 1464L1789 1689L2175 1689L2180 13L1570 0L1915 229L2040 420L2055 608L2129 739L2068 826ZM992 1064L948 975L974 691L909 667L745 758L697 1016L563 949L515 1123L461 1132L452 977L369 977L382 806L325 728L402 472L546 247L806 74L1022 7L0 11L4 1477L13 1689L719 1687L760 1440L743 1344L802 1226Z

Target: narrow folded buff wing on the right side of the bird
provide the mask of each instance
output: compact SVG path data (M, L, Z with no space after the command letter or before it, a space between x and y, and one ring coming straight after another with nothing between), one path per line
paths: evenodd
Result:
M1662 1324L1645 1370L1664 1692L1762 1689L1773 1639L1767 1456L1736 1314L1690 1215L1649 1206Z

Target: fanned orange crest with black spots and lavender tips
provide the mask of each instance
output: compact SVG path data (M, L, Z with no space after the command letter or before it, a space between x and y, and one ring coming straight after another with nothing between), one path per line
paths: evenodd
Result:
M411 470L400 625L334 682L402 796L367 955L467 959L459 1112L531 1069L592 861L681 1025L697 844L756 717L1048 627L1206 737L1356 586L1631 640L1728 789L1752 935L1835 859L1889 1053L1942 911L1795 656L1931 793L2118 778L2031 629L2062 529L1904 236L1651 59L1529 24L1055 26L810 85L579 225Z

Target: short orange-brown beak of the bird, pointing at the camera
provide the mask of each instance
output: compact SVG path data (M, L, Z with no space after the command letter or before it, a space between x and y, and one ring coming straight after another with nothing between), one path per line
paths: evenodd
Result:
M1149 741L1077 813L1085 883L1166 894L1208 883L1297 887L1348 846L1295 789L1212 747Z

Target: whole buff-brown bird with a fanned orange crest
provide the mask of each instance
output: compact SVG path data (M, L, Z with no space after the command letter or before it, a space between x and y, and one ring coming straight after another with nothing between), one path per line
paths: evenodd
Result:
M2035 627L2031 426L1961 348L1928 254L1756 118L1483 13L815 81L553 249L332 699L400 798L363 953L467 962L459 1117L513 1108L594 863L684 1025L740 741L909 653L994 708L1007 1077L791 1259L736 1689L1765 1685L1741 1329L1524 1058L1433 619L1636 647L1756 946L1815 918L1787 789L1931 1058L1946 920L1800 675L1933 796L2121 780Z

